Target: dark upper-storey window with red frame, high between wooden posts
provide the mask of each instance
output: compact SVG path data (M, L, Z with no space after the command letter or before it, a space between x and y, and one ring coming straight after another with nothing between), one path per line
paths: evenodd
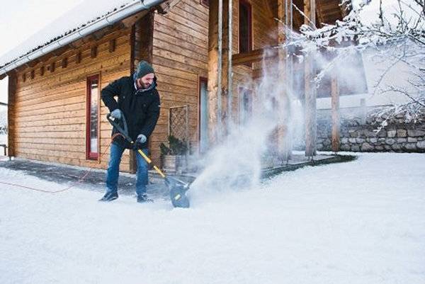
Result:
M251 4L239 0L239 53L252 50Z

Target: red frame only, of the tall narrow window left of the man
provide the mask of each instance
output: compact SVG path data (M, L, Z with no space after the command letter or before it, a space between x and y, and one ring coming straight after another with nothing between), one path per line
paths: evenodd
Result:
M91 93L91 86L94 81L97 81L98 88L97 93ZM97 160L99 157L99 123L100 123L100 101L99 101L99 87L100 87L100 76L99 75L93 75L87 77L86 80L86 159L89 160ZM97 115L96 115L96 132L97 132L97 152L91 151L91 99L93 96L96 96L97 100Z

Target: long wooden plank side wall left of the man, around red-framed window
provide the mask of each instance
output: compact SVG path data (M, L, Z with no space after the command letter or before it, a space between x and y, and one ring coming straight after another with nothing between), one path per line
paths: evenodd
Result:
M10 116L14 125L13 152L17 157L106 169L111 126L100 91L130 73L130 28L115 26L100 40L87 36L74 47L52 52L17 73L14 112ZM62 64L64 59L67 64ZM99 156L106 154L93 161L86 159L86 78L96 74L101 103ZM126 153L121 170L128 169Z

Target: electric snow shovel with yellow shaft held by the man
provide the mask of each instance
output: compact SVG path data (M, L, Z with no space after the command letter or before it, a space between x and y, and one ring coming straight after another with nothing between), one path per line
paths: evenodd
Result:
M109 113L108 115L106 115L106 118L108 119L109 123L111 123L111 125L115 127L115 130L117 130L118 132L120 132L121 135L123 135L125 140L130 142L130 144L134 145L135 143L128 135L128 126L123 113L121 113L121 116L122 119L118 120L116 118L113 118L111 116L111 113ZM123 126L120 125L120 122L123 123ZM141 149L137 149L137 152L143 157L143 159L145 159L145 161L147 161L147 164L152 165L155 171L157 171L158 174L162 176L162 178L164 178L165 184L170 190L170 198L173 206L176 208L188 208L190 206L189 199L186 196L186 191L188 191L189 189L188 183L180 181L177 178L166 176L157 166L152 164L152 160L149 159L149 157L147 157L147 155L143 153Z

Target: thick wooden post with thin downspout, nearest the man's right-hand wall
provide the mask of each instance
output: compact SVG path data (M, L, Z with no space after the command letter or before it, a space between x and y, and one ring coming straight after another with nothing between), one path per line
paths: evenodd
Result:
M226 52L229 40L224 32L228 25L227 1L229 0L210 1L208 29L208 137L210 142L208 144L214 144L221 139L223 120L226 116L223 110L227 108L227 103L222 103L222 98L227 96L229 72Z

